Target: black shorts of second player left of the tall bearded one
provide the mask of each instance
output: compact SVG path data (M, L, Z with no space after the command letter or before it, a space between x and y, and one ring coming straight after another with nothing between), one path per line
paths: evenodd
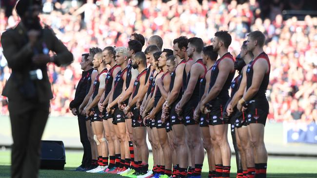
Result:
M199 103L199 99L191 99L183 108L183 116L185 118L184 125L196 125L197 121L194 120L194 111Z

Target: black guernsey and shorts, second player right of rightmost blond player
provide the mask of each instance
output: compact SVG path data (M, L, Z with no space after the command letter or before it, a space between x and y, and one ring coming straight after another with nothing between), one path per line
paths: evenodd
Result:
M146 75L147 71L149 71L149 70L150 69L144 69L137 76L136 80L134 81L134 85L133 85L132 98L136 97L137 94L138 94L139 87L140 87L140 78L141 78L141 76L144 75L144 74ZM132 113L133 113L133 116L132 116L132 127L145 126L143 124L143 119L142 119L142 116L140 115L139 108L136 105L132 106L131 108L132 108Z

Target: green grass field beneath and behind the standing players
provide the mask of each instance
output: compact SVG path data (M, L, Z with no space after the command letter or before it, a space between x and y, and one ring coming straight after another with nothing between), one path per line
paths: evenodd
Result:
M66 151L65 170L40 170L40 178L119 178L117 175L75 172L81 160L80 151ZM149 158L150 168L153 165ZM236 177L235 157L231 159L231 177ZM208 164L205 157L202 178L208 177ZM300 157L269 157L268 178L317 178L317 159ZM0 178L10 178L10 151L0 151Z

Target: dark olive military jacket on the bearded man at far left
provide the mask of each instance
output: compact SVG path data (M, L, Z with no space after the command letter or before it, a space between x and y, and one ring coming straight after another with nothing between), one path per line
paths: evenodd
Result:
M53 98L51 84L47 75L46 65L35 66L32 63L32 56L35 52L44 52L48 50L56 53L54 63L57 66L67 65L73 61L73 54L70 53L63 43L55 36L50 29L43 29L42 35L34 49L31 49L28 43L28 37L23 24L20 22L17 27L5 31L1 36L3 54L8 62L12 74L8 79L4 89L3 96L8 97L10 101L28 100L25 95L30 91L35 91L36 102L47 102ZM45 45L45 47L43 46ZM40 69L43 78L41 80L30 81L30 71ZM33 93L33 94L34 94Z

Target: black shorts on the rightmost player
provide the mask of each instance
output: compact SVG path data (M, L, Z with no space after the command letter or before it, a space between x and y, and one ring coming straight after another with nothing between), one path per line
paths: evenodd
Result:
M266 98L249 101L246 110L247 124L265 125L268 113L269 103Z

